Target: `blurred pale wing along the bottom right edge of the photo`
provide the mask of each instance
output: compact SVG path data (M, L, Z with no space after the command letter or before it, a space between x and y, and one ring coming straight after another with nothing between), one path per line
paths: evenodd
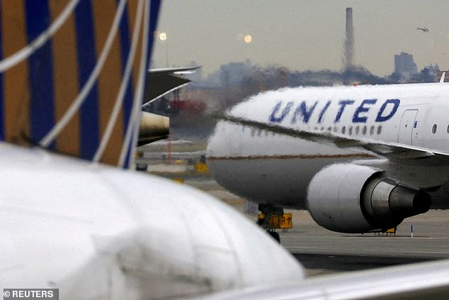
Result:
M446 299L448 292L449 260L443 260L230 291L213 299Z

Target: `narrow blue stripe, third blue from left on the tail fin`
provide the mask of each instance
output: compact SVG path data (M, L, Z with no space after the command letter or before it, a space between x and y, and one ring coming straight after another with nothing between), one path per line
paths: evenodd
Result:
M119 3L120 0L117 0ZM130 39L130 25L128 20L128 9L125 6L125 10L123 12L123 17L120 20L119 27L119 38L120 38L120 55L122 60L122 77L125 72L127 57L130 54L131 48L131 39ZM128 81L125 96L123 99L123 137L125 137L127 125L130 121L130 116L132 113L132 101L133 101L133 92L132 92L132 72L130 75L130 79ZM125 138L123 138L125 140Z

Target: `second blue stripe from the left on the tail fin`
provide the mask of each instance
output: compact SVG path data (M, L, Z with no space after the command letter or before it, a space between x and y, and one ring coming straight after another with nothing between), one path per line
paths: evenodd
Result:
M86 84L96 65L96 48L91 1L80 1L75 9L76 50L79 89ZM80 109L80 156L91 160L98 149L100 125L98 113L98 84L93 84Z

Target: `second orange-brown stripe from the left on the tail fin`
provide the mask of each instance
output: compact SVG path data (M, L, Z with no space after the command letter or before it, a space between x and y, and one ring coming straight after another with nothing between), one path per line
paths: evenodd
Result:
M59 16L70 0L50 0L52 20ZM59 121L78 95L78 68L76 64L76 38L74 16L70 16L52 38L52 54L55 80L55 111ZM57 150L69 155L79 156L79 112L59 133Z

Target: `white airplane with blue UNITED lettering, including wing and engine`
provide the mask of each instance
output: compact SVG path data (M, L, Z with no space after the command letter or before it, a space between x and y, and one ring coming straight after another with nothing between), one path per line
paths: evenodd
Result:
M443 80L262 92L217 123L209 170L265 216L307 209L342 233L385 231L431 206L447 208Z

